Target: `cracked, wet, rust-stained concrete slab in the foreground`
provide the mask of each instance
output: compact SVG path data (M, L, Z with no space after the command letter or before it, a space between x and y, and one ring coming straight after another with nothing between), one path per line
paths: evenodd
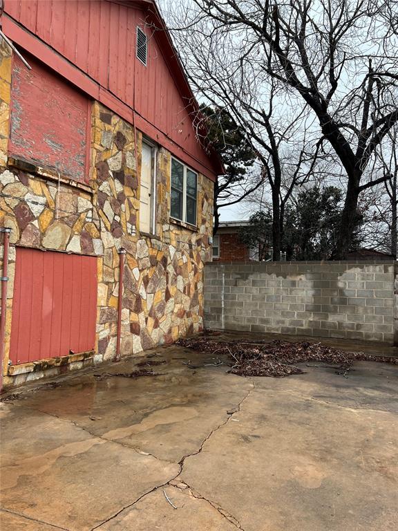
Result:
M131 359L1 404L1 529L398 528L397 366L275 379L178 346L147 359L167 363L111 375Z

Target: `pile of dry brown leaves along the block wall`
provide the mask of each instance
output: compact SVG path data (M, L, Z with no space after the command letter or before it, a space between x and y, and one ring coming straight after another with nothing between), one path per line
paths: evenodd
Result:
M195 351L227 355L231 373L241 376L274 376L281 378L305 371L296 366L303 362L332 364L346 375L354 360L398 364L398 358L375 356L363 352L344 352L321 343L275 340L272 342L214 341L209 337L180 339L178 344Z

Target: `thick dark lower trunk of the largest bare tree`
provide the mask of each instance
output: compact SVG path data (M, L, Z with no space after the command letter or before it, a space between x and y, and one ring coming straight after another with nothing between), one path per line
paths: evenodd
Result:
M350 245L352 243L352 235L357 226L357 207L359 198L359 176L348 178L347 194L343 212L341 214L340 230L337 236L336 250L332 255L333 260L346 260L348 252L350 252Z

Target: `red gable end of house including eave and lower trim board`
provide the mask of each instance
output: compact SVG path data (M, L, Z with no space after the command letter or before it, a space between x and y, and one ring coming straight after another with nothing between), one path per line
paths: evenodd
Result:
M191 121L198 103L155 2L78 1L68 10L58 10L63 4L8 0L1 17L3 31L17 47L136 124L182 162L212 180L222 174L218 153L200 142L206 136L205 129L196 140ZM154 29L154 46L162 57L159 65L163 65L163 83L153 74L155 68L145 72L131 60L135 55L135 25L142 21Z

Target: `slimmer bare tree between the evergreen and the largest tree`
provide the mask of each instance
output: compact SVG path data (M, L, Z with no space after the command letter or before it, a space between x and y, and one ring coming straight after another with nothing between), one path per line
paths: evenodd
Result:
M238 203L258 189L261 180L267 180L272 195L274 260L279 260L286 202L294 187L305 180L313 167L314 117L309 116L309 108L292 104L278 88L278 82L267 80L268 76L260 71L253 57L247 60L255 51L252 44L246 43L247 56L242 52L236 54L236 39L242 37L239 31L238 34L222 28L218 31L214 21L196 15L198 13L192 13L183 3L173 6L173 12L168 15L189 80L209 106L227 109L238 126L246 131L247 141L261 167L262 179L257 179L254 186L251 180L244 189L243 183L238 183L235 190L228 185L227 195L220 191L219 202ZM193 21L189 22L192 17ZM181 20L187 22L187 27L181 26ZM283 169L287 167L289 185L283 188L287 182Z

